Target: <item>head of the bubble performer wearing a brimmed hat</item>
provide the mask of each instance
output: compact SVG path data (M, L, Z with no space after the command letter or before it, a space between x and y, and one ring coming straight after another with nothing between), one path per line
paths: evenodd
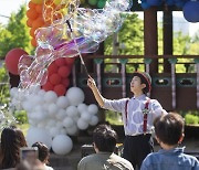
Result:
M135 93L136 88L136 82L138 82L138 88L142 88L144 94L147 94L150 92L151 88L151 77L148 73L145 72L134 72L133 73L133 79L130 83L130 87L133 87L133 92ZM134 84L135 83L135 84ZM135 87L134 87L135 86Z

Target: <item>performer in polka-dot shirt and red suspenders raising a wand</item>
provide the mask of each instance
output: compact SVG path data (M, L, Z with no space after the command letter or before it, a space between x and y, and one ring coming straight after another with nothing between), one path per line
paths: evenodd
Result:
M122 113L126 136L123 157L132 162L134 169L136 166L140 168L145 157L153 151L153 121L164 113L156 99L146 96L150 92L150 84L151 78L147 73L135 72L130 82L134 97L111 100L100 94L92 77L87 81L101 107Z

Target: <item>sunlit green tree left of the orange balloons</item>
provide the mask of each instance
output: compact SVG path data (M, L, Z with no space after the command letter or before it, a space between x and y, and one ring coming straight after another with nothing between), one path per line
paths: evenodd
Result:
M0 56L14 49L21 47L31 53L29 28L27 26L27 7L21 6L18 13L12 13L7 25L0 24Z

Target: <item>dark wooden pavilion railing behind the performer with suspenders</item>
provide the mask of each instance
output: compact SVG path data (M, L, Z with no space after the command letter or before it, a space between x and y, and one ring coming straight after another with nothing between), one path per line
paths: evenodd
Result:
M154 60L158 62L158 70L163 68L163 59L170 64L169 73L150 73L153 78L151 98L158 99L167 110L190 110L199 108L199 55L87 55L85 61L94 59L91 75L95 78L100 92L106 98L129 97L129 83L134 71L150 73ZM107 59L115 59L107 62ZM134 59L136 59L134 61ZM139 59L137 61L137 59ZM189 61L179 62L179 59ZM116 62L115 62L116 61ZM114 70L107 70L112 65ZM176 67L182 65L184 72L177 72ZM91 67L91 62L87 67ZM95 102L92 92L86 85L87 76L77 61L73 67L73 85L80 86L86 94L86 102Z

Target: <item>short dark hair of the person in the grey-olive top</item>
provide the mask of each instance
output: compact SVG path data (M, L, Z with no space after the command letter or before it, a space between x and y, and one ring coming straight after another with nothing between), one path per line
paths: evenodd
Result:
M100 125L93 132L93 141L100 151L113 152L117 141L117 134L108 125Z

